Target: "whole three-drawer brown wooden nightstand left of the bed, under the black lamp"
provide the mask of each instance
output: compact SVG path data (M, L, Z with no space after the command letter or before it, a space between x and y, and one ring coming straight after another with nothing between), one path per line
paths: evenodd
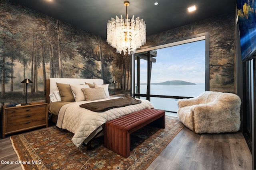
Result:
M7 134L41 126L48 127L48 103L36 102L17 107L2 106L2 139Z

